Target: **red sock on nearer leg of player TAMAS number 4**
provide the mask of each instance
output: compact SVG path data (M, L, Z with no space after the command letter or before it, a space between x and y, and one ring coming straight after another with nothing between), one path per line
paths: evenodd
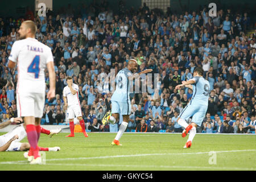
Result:
M39 148L38 148L38 134L36 133L35 125L27 125L27 140L30 143L30 149L33 152L34 159L38 158L39 155Z

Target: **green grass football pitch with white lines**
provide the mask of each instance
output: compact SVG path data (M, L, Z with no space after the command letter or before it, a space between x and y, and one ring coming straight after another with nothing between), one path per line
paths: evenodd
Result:
M24 152L1 152L0 170L256 170L256 135L197 134L192 147L183 148L181 134L124 133L122 146L110 145L115 133L88 134L42 134L39 146L61 150L45 152L42 165L29 164Z

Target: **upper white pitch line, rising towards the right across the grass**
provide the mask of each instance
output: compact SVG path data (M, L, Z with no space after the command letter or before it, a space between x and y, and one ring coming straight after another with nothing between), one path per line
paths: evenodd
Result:
M247 151L256 151L254 149L251 150L230 150L230 151L214 151L216 153L225 153L225 152L247 152ZM110 155L110 156L94 156L87 158L60 158L60 159L47 159L46 161L59 161L59 160L88 160L88 159L109 159L109 158L130 158L130 157L138 157L138 156L152 156L152 155L197 155L197 154L209 154L209 152L191 152L191 153L163 153L163 154L134 154L134 155ZM0 164L13 164L13 163L24 163L21 161L11 161L11 162L0 162Z

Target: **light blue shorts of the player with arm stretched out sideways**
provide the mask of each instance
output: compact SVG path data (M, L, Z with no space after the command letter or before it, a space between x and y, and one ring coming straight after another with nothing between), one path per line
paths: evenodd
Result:
M131 101L128 102L117 102L111 101L111 113L119 113L120 115L130 115L131 114Z

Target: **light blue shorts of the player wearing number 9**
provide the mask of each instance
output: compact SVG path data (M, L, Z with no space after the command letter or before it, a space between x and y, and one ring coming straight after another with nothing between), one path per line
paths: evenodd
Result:
M191 122L196 123L196 125L198 126L201 126L201 123L203 122L205 114L207 112L207 108L208 106L205 105L188 104L180 113L179 117L185 120L188 120L190 117L192 117Z

